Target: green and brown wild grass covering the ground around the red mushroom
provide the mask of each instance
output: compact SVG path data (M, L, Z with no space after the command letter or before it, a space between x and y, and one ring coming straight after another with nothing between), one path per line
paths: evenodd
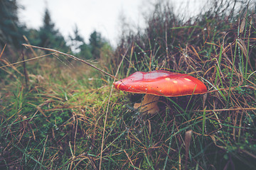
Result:
M143 95L112 91L113 76L65 55L1 67L9 64L2 50L0 167L255 169L255 13L191 26L161 12L149 18L156 28L127 35L111 64L95 65L114 75L120 64L118 78L154 69L191 74L207 94L161 97L160 112L142 116L132 106Z

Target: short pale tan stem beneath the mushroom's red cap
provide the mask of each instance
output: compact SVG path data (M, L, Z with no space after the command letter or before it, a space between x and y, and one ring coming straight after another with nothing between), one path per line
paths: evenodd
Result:
M145 94L142 103L134 103L134 108L140 108L140 112L144 115L146 113L155 114L159 112L159 107L157 102L159 101L160 96L155 96L152 94Z

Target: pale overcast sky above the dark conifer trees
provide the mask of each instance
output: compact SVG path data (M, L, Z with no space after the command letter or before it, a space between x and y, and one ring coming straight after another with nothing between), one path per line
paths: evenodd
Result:
M18 5L23 6L18 16L21 23L26 23L28 28L38 29L43 25L43 16L48 8L55 28L66 39L68 35L73 35L77 25L85 42L89 42L90 34L96 30L115 46L121 35L121 18L124 17L134 27L143 28L144 13L150 11L154 1L156 0L151 0L151 3L149 0L18 0ZM181 11L180 5L188 0L170 1L174 2L176 11ZM203 0L191 1L191 5L196 6Z

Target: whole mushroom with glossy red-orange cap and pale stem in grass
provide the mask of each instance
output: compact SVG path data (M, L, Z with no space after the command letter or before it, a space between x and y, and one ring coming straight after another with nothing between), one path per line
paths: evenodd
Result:
M195 77L165 70L135 72L125 79L114 82L114 88L136 94L146 94L142 103L135 103L134 108L141 106L140 111L149 114L159 112L157 102L160 96L186 96L204 94L207 91L206 85Z

